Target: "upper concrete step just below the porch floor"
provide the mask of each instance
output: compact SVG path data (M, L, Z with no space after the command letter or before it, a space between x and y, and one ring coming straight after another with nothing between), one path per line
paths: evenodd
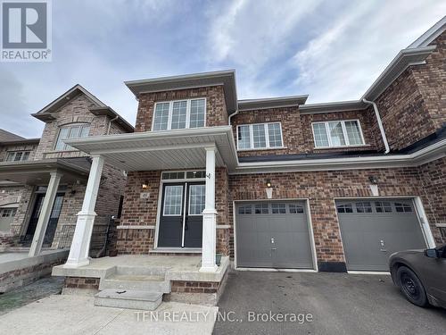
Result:
M146 292L170 292L170 281L159 275L111 274L99 283L99 289L129 289Z

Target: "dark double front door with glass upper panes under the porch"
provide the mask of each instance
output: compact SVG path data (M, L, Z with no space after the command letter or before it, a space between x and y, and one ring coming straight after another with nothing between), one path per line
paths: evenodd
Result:
M158 247L202 247L204 195L202 182L163 185Z

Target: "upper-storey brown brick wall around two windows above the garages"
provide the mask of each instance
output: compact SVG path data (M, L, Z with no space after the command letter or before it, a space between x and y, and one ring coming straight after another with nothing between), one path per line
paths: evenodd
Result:
M231 123L233 126L235 143L237 141L236 127L238 125L275 121L280 121L282 124L285 148L239 151L238 156L244 157L250 155L295 155L378 149L381 145L382 139L379 133L373 131L374 123L376 123L374 118L375 115L369 109L364 111L338 113L301 114L297 107L285 107L240 112L231 118ZM358 119L361 124L362 132L367 145L366 147L315 149L311 122L356 119Z

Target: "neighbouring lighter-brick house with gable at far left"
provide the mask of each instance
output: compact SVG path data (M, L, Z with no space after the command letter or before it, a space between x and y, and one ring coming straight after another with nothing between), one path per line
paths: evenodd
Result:
M29 247L29 255L39 255L42 247L70 247L86 194L91 157L65 139L128 133L133 127L80 85L32 116L45 122L41 138L0 130L0 247ZM103 231L118 214L125 181L124 172L106 165L92 248L105 243Z

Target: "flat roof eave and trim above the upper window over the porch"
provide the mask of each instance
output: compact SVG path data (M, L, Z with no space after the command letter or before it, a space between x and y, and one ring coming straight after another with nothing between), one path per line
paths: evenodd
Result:
M161 77L148 80L130 80L124 82L137 97L142 93L171 91L186 88L202 88L222 85L225 90L227 113L237 109L237 93L235 88L235 70L193 73L172 77Z

